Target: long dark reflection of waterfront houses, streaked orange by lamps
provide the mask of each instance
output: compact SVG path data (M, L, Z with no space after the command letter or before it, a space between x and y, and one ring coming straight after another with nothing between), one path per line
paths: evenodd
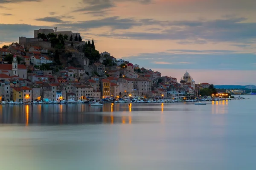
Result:
M144 107L145 106L145 107ZM24 124L98 124L133 122L134 111L163 111L163 105L149 109L149 105L104 104L89 107L87 104L70 105L0 105L0 123ZM118 114L116 114L118 112ZM120 114L120 111L124 114ZM135 121L136 122L136 121ZM144 121L145 122L145 121Z

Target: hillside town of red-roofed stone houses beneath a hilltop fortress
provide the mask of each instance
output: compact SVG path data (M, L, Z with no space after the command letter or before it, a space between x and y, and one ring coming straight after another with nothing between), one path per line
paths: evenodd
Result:
M0 100L14 102L141 97L195 99L209 83L187 71L177 79L99 53L79 33L39 29L34 37L0 48Z

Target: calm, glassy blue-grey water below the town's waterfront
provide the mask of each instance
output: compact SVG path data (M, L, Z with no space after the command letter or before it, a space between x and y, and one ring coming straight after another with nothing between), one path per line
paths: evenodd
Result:
M256 96L0 105L0 170L255 170Z

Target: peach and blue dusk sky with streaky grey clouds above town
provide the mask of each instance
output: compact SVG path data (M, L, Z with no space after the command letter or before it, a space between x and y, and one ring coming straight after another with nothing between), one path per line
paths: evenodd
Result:
M256 85L256 0L0 0L0 46L39 28L81 33L178 81Z

